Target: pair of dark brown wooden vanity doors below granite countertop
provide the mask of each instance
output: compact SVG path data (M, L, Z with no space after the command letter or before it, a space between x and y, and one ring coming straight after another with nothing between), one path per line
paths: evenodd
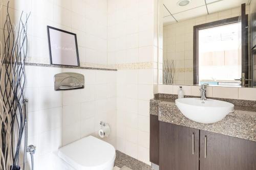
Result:
M256 142L159 122L159 168L255 170Z

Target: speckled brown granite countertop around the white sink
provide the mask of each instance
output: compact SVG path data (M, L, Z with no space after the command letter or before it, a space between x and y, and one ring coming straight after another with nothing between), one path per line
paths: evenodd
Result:
M256 105L254 101L231 100L235 111L213 124L201 124L186 118L175 105L176 96L155 97L150 102L150 114L161 122L256 141ZM226 101L226 100L225 100ZM245 106L249 105L249 106Z

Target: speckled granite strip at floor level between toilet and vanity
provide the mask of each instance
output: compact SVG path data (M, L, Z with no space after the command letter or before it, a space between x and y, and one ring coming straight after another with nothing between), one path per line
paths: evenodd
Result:
M127 166L133 170L151 170L150 165L147 165L137 159L134 159L118 150L116 150L115 166Z

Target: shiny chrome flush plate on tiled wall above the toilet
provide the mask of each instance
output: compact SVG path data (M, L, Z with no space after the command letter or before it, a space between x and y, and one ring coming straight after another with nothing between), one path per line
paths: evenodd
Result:
M84 88L84 76L76 72L62 72L54 76L55 90Z

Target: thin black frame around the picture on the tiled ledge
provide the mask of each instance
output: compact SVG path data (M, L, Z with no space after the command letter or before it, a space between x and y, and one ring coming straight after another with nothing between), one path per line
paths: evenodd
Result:
M51 49L50 29L53 29L53 30L56 30L56 31L60 31L60 32L63 32L63 33L67 33L67 34L71 34L71 35L74 36L74 39L75 39L75 47L76 47L77 65L68 65L68 64L56 64L56 63L53 63L53 61L52 61L52 57L53 57L53 56L52 56L52 49ZM58 29L58 28L54 28L54 27L51 27L51 26L47 26L47 35L48 35L48 47L49 47L50 63L51 63L52 65L77 66L77 67L80 66L80 62L79 62L79 53L78 53L78 45L77 45L77 37L76 37L76 34L75 34L75 33L71 33L71 32L68 32L68 31L65 31L65 30L61 30L61 29Z

